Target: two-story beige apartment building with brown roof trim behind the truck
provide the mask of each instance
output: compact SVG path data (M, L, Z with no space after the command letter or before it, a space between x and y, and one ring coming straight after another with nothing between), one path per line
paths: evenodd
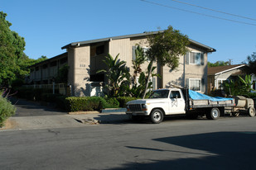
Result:
M71 95L92 96L91 84L106 81L104 73L97 73L100 69L106 69L104 57L107 54L113 57L119 54L119 59L127 62L126 65L133 74L132 61L135 47L140 45L142 48L148 48L147 34L114 36L65 45L61 49L65 49L66 53L32 66L34 69L31 71L31 81L51 83L51 79L56 76L56 69L60 68L61 64L67 63L70 67L68 83L71 87ZM207 92L205 85L207 83L207 56L215 52L215 49L195 40L190 40L190 42L191 44L187 46L189 52L185 56L180 56L180 64L176 70L155 64L156 72L162 78L152 78L154 88L170 87L171 84L176 84L190 87L198 92ZM146 70L147 64L148 62L145 62L142 65L142 70Z

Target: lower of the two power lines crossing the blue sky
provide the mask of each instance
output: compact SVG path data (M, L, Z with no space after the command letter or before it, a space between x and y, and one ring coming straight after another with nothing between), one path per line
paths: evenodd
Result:
M183 12L191 12L191 11L186 10L186 9L181 9L181 8L178 8L178 7L171 7L171 6L167 6L167 5L164 5L164 4L161 4L161 3L157 3L157 2L150 2L150 1L147 1L147 0L140 0L140 1L151 3L153 5L157 5L157 6L160 6L160 7L168 7L168 8L176 9L176 10L183 11ZM200 12L191 12L191 13L195 13L195 14L200 15L200 16L212 17L212 18L217 18L217 19L220 19L220 20L233 21L233 22L240 23L240 24L256 26L256 24L253 24L253 23L248 23L248 22L244 22L244 21L235 21L235 20L230 20L230 19L223 18L223 17L215 17L215 16L211 16L211 15L208 15L208 14L200 13Z

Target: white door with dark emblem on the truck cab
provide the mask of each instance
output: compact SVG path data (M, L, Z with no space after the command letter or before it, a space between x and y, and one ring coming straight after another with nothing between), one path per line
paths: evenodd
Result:
M170 113L171 114L181 114L185 113L185 100L181 91L171 90L170 94Z

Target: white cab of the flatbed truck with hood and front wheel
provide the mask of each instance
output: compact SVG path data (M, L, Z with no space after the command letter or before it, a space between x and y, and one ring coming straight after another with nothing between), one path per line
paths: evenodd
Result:
M179 88L164 88L152 92L147 99L127 103L126 114L133 119L137 116L150 116L153 123L160 123L164 116L185 114L186 101Z

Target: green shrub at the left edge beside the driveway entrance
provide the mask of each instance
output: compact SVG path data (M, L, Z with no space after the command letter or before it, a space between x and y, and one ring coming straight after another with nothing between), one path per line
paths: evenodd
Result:
M0 127L2 127L8 117L15 114L15 111L15 106L12 106L12 103L7 101L7 99L0 94Z

